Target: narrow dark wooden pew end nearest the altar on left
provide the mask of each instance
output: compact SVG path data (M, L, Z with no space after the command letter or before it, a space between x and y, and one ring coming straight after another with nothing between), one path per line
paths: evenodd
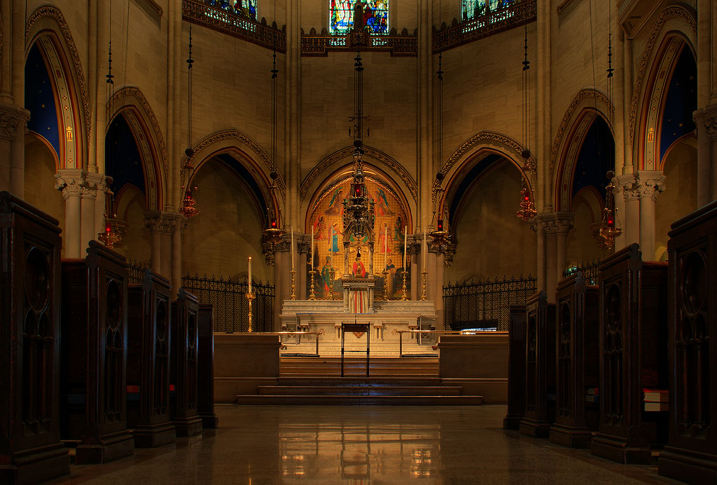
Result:
M212 305L199 305L199 395L196 409L203 428L218 428L214 413L214 310Z

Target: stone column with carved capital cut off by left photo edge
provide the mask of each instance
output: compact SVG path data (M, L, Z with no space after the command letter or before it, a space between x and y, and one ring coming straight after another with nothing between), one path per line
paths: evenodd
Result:
M7 55L4 52L4 55ZM25 124L30 112L15 104L0 103L0 190L24 198Z

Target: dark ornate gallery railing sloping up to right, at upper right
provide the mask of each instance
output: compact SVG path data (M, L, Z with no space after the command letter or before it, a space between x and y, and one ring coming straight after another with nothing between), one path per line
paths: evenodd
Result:
M454 19L449 28L433 34L433 53L462 46L468 42L528 24L536 19L538 19L536 0L519 0L516 4L488 11L484 15L465 22Z

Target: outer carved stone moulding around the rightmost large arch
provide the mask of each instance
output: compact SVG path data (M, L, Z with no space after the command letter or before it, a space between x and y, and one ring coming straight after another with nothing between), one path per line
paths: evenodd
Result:
M635 144L635 137L640 136L637 132L636 124L638 119L638 109L640 106L645 104L644 99L652 94L652 89L645 87L649 83L650 78L645 79L645 74L648 69L654 67L656 59L660 58L660 49L656 49L655 46L664 46L665 41L670 36L682 36L687 41L692 52L695 52L695 45L697 45L697 20L695 12L689 7L683 5L671 5L660 11L660 14L653 24L650 37L647 39L645 49L642 52L642 58L637 74L635 75L635 88L632 90L632 97L630 99L630 119L628 121L628 134L630 136L630 146L632 147L633 162L632 165L635 170L640 168L640 162L637 158L637 147ZM696 56L695 56L696 59ZM657 73L655 73L657 74ZM650 93L648 95L647 93Z

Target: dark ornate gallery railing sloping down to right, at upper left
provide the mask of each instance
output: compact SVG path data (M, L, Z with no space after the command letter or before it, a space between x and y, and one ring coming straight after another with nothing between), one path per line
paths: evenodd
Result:
M247 18L241 10L234 10L228 2L217 0L182 0L182 18L193 24L208 27L224 34L252 42L267 49L286 52L286 33L275 24L267 25L266 19L256 21Z

